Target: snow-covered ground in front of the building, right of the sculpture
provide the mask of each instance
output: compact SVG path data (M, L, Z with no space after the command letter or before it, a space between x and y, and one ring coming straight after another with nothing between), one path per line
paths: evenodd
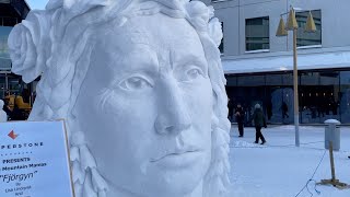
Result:
M237 126L233 125L230 134L232 189L229 196L350 197L350 189L315 187L316 182L331 177L329 152L324 149L324 127L300 127L301 146L296 148L293 126L270 126L262 128L267 143L260 146L254 143L253 127L245 128L244 138L238 138ZM334 153L336 177L350 184L350 127L340 127L340 150ZM304 187L311 178L313 181Z

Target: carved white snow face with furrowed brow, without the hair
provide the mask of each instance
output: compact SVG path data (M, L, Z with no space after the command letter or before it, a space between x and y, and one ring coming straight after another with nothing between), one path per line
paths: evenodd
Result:
M102 32L74 108L98 172L112 190L190 194L211 161L213 93L199 36L163 14Z

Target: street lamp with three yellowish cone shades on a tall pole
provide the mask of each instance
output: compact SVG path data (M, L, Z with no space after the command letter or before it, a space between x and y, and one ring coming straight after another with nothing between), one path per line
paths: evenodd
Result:
M284 26L282 15L288 14L288 22ZM276 36L287 36L288 31L293 31L293 91L294 91L294 127L295 127L295 146L300 146L299 137L299 95L298 95L298 53L296 53L296 33L298 23L295 19L294 8L291 7L288 13L281 14L280 23L276 33ZM312 16L311 11L308 12L305 32L316 32L316 25Z

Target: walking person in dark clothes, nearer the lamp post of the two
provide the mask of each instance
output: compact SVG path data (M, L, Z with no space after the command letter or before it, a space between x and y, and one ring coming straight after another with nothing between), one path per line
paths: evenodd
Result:
M259 104L255 105L255 111L253 114L253 120L254 120L254 126L255 126L255 130L256 130L256 135L255 135L255 143L259 142L259 139L261 139L261 144L266 143L266 140L261 134L261 128L262 127L267 127L266 125L266 118L265 115L261 111L261 106Z

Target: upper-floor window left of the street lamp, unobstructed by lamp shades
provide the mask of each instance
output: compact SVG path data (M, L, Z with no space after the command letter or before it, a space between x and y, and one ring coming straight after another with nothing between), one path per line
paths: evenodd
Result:
M269 18L245 20L245 49L261 50L270 48Z

